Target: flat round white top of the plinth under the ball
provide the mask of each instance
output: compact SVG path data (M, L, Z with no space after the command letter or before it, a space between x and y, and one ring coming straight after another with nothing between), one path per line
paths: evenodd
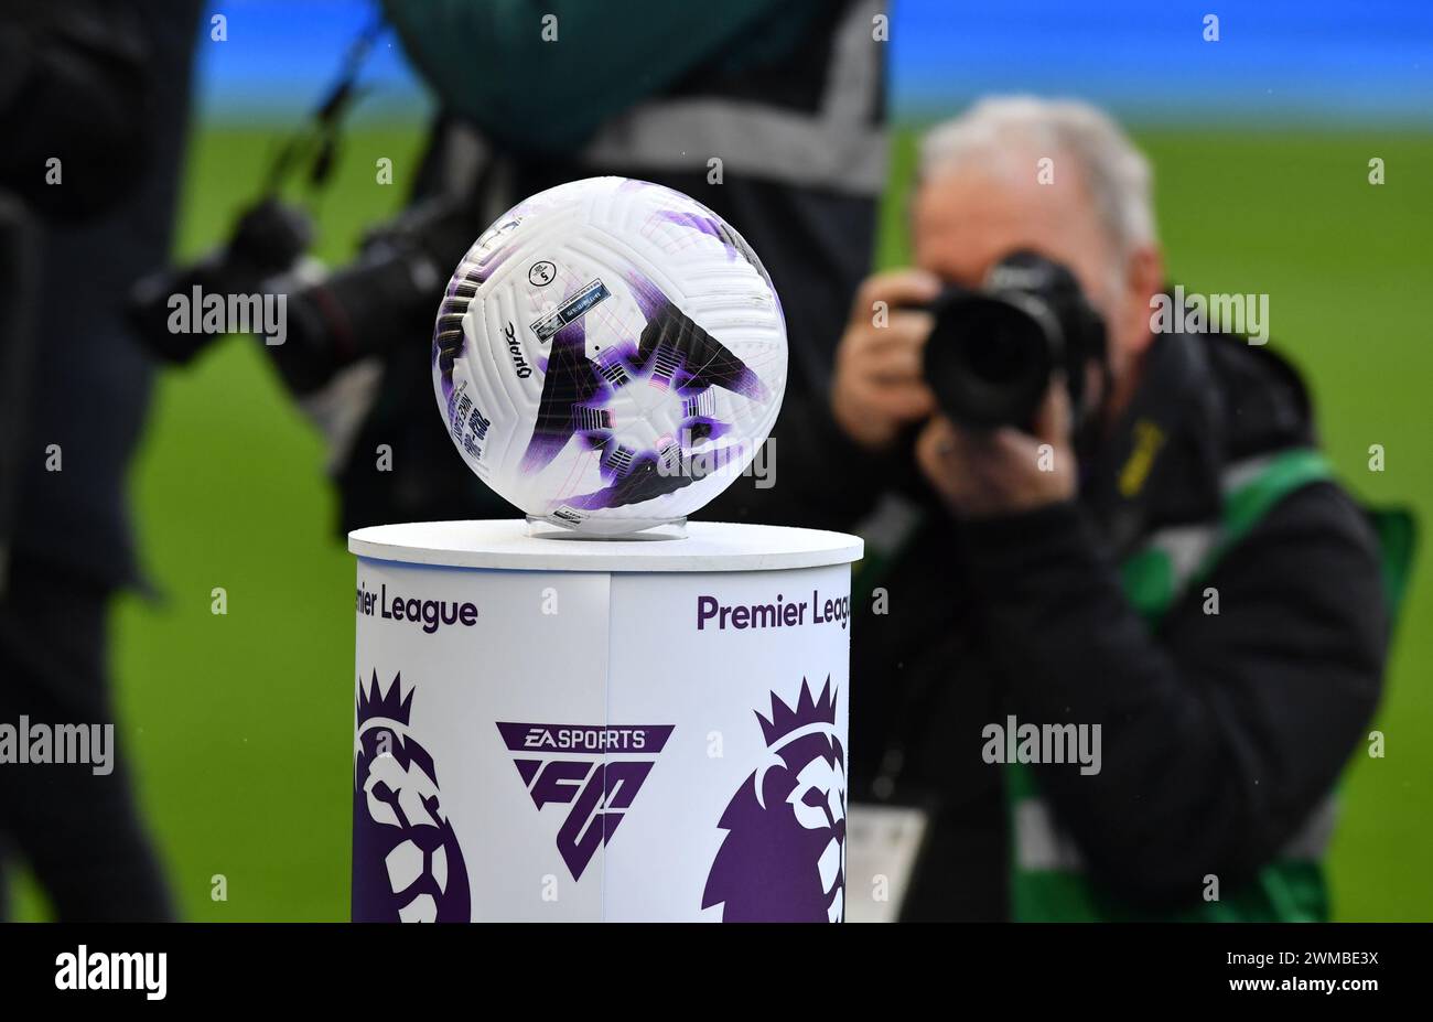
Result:
M520 519L411 522L348 533L360 558L450 568L556 572L761 572L860 560L858 536L770 525L688 522L686 536L589 539L527 535Z

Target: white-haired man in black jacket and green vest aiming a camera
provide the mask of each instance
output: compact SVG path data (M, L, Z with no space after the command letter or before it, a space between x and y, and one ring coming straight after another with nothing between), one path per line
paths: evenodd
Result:
M1327 916L1333 788L1381 684L1377 549L1283 360L1152 331L1149 192L1079 103L933 129L916 268L863 285L830 414L782 450L784 503L867 523L851 791L927 816L907 919ZM992 327L1016 320L1062 338L1023 411ZM1026 724L1096 755L1007 763Z

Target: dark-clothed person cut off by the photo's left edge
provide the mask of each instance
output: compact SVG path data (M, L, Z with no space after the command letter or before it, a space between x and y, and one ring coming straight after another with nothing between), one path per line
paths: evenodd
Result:
M109 611L142 581L123 490L152 377L120 310L168 257L198 22L191 0L0 0L0 724L17 744L113 727ZM13 859L60 920L173 914L128 744L106 760L6 750L0 916Z

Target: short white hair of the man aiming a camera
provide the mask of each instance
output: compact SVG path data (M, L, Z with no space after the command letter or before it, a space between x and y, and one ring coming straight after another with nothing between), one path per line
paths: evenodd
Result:
M920 179L967 161L997 163L1020 156L1072 158L1101 222L1121 255L1155 239L1149 161L1109 115L1073 99L992 96L936 125L920 142ZM1030 168L1030 173L1035 168Z

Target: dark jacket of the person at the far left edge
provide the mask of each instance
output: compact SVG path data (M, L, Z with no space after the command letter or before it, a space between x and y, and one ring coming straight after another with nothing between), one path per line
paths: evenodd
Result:
M34 337L0 325L0 350L34 351L23 366L0 351L13 374L0 380L0 403L13 403L0 423L19 421L0 436L0 505L16 505L17 560L100 588L140 581L125 476L153 364L120 310L169 254L199 14L195 0L0 0L0 189L23 201L36 235L34 280L0 265L0 318L23 310Z

